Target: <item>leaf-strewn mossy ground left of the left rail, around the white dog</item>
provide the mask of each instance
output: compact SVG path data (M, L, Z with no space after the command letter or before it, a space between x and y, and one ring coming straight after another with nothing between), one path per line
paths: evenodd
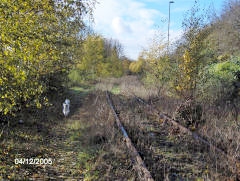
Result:
M135 180L104 94L68 96L69 117L56 106L29 113L22 124L14 120L3 130L0 180ZM39 159L46 162L36 163Z

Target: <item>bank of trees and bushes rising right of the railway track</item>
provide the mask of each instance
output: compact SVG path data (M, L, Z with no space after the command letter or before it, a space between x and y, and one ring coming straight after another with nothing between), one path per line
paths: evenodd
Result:
M162 95L215 106L229 105L237 121L240 55L233 37L239 32L239 8L239 1L228 1L221 16L209 19L214 13L205 13L196 1L185 16L184 33L176 48L168 53L164 35L158 35L140 54L135 63L137 69L130 70ZM227 16L230 11L231 16ZM236 43L230 46L230 41Z

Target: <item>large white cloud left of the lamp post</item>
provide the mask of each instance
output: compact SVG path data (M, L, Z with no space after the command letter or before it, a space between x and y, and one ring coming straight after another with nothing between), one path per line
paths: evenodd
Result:
M156 19L163 17L166 15L137 0L101 0L94 12L94 29L107 38L118 39L126 56L137 59L157 28Z

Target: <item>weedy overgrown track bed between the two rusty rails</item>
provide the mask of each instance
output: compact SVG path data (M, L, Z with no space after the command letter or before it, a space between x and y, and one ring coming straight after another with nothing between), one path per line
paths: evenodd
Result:
M193 139L136 97L111 95L114 109L154 180L238 180L237 167L216 147Z

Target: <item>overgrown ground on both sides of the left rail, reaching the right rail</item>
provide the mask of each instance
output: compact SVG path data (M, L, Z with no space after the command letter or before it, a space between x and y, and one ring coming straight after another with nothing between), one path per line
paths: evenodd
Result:
M66 97L71 112L64 118L61 105ZM155 180L234 180L228 162L210 148L153 116L133 97L111 97ZM13 119L4 126L0 180L142 180L105 92L73 89L45 110L29 110L23 123ZM35 163L27 163L31 158ZM47 162L36 163L41 159Z

